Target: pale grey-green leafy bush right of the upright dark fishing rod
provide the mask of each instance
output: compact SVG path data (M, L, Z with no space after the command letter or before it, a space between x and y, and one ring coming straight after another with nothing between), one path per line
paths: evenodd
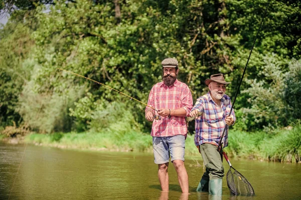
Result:
M286 62L273 53L265 55L263 61L258 76L263 76L264 79L246 80L250 87L242 93L250 96L247 101L251 106L243 107L241 111L246 114L243 121L248 123L250 129L266 127L266 130L269 130L268 128L287 125L282 97L285 73L281 70Z

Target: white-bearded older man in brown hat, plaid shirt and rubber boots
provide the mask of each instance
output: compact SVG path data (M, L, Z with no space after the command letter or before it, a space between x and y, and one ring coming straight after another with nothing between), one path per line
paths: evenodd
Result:
M222 195L222 178L224 167L221 152L217 147L224 127L233 125L236 117L230 97L225 94L226 82L222 73L213 74L205 80L209 92L197 99L191 109L190 116L195 119L195 144L202 155L206 171L198 185L197 191L206 191L209 194ZM228 127L225 131L222 144L228 145Z

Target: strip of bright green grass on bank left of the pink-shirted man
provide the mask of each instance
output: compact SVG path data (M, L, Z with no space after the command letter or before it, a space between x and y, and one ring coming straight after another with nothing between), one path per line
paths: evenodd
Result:
M149 151L152 137L140 132L69 132L31 134L26 142L61 148L78 148L108 151Z

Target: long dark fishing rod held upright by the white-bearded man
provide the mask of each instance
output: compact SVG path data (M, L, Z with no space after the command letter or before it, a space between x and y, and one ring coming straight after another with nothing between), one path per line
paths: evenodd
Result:
M252 45L252 48L251 48L251 51L250 51L250 54L249 54L247 63L246 63L246 66L245 66L245 68L244 68L244 70L243 70L242 76L241 76L241 78L240 78L240 82L239 82L238 88L237 88L237 90L236 90L236 94L235 94L235 97L234 97L234 100L233 100L233 103L232 103L232 106L231 106L231 109L230 109L230 112L229 112L229 115L228 115L228 116L230 116L231 113L232 113L232 110L233 110L233 107L234 107L234 103L235 103L235 100L236 100L236 97L237 97L237 94L238 94L240 85L241 85L241 83L242 83L243 76L244 76L244 74L245 74L245 72L246 72L246 69L247 69L247 66L248 66L248 63L249 63L249 60L250 60L250 57L251 57L253 48L254 48L254 46L255 46L255 42L256 42L258 33L259 33L259 31L260 31L260 28L261 28L263 19L264 19L264 17L265 17L266 10L267 10L267 8L268 8L269 2L270 2L270 0L268 0L267 5L266 5L266 7L265 7L265 11L264 11L263 17L262 17L262 19L261 19L259 28L258 28L257 33L256 33L256 36L255 36L255 39L254 39L254 41L253 41L253 45ZM221 139L220 139L220 141L219 141L219 143L218 143L218 147L217 147L217 150L218 150L218 151L220 151L220 149L221 149L221 147L222 147L222 140L223 140L223 137L224 137L224 134L225 134L225 131L226 131L227 128L228 128L228 124L225 125L224 130L223 130L223 133L222 133L222 136L221 136Z

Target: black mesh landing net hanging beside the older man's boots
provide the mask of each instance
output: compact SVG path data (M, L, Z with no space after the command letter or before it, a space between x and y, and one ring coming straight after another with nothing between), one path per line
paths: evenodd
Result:
M230 192L234 195L249 196L255 194L251 183L232 166L227 172L227 184Z

